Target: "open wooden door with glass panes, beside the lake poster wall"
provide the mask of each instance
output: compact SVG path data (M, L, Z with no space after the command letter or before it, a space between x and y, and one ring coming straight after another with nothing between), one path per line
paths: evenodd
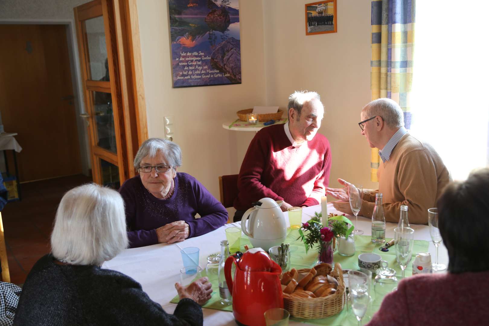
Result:
M74 8L89 130L93 181L117 189L127 178L121 144L123 121L117 103L117 48L111 1L94 0ZM112 13L112 15L111 15Z

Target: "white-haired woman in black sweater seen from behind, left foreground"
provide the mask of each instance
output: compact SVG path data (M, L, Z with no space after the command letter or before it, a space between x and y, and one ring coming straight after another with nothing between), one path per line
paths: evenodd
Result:
M56 213L51 254L27 276L14 325L202 325L199 304L212 294L207 278L177 283L180 302L170 315L132 278L100 268L127 244L116 191L95 184L68 191Z

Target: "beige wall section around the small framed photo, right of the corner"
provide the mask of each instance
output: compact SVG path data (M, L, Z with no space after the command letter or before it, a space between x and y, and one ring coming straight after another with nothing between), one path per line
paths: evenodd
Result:
M304 1L264 0L267 104L287 107L295 89L317 91L325 106L319 130L333 155L336 179L376 188L370 149L360 135L361 108L370 101L370 1L337 1L337 33L306 36Z

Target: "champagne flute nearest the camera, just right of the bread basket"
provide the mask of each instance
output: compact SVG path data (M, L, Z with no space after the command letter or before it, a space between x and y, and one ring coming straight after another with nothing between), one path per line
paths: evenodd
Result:
M368 276L360 271L348 271L348 286L350 287L350 303L355 314L358 326L362 325L362 318L367 312L370 303L370 289Z

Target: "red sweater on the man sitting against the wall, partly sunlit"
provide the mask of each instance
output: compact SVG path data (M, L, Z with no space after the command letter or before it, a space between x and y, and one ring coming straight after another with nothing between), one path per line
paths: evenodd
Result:
M292 206L317 205L328 186L330 170L331 149L325 136L316 133L311 141L293 147L284 125L264 128L244 156L234 207L246 210L264 197Z

